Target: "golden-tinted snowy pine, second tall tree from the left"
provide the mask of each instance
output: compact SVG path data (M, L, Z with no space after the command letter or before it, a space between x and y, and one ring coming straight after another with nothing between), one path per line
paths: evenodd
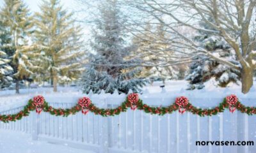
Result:
M41 12L35 15L35 46L40 52L38 64L43 73L40 80L51 79L53 90L57 84L76 80L83 69L81 59L81 28L75 25L72 13L61 6L59 0L45 0Z

